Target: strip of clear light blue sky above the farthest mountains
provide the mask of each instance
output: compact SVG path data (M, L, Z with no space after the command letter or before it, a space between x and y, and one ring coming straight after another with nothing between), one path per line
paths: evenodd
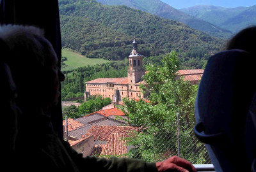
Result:
M173 8L187 8L199 4L212 4L215 6L223 6L234 8L237 6L253 6L256 4L255 0L161 0L169 4Z

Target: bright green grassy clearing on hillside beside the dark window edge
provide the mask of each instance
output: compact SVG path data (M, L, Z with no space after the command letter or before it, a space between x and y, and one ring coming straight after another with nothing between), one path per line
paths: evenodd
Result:
M89 59L84 57L81 54L78 54L76 52L73 52L72 50L68 48L64 48L61 52L63 57L67 57L67 61L65 61L65 64L68 66L65 68L61 68L61 71L68 71L72 69L77 69L81 66L87 66L87 65L95 65L95 64L102 64L109 62L104 59Z

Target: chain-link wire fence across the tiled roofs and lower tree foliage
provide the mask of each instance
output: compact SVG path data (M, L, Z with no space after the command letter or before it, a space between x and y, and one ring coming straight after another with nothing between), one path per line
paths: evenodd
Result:
M172 155L193 164L211 164L203 143L193 133L195 122L131 125L124 119L90 115L63 121L64 137L77 152L97 157L132 157L147 162ZM66 129L68 129L66 131Z

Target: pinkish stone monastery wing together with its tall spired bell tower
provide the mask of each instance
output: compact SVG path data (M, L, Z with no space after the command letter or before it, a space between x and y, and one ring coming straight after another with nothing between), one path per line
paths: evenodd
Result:
M138 52L138 42L136 36L132 42L133 48L129 55L129 68L127 77L124 78L97 78L86 82L86 91L84 99L88 96L109 97L112 101L121 101L124 97L129 99L144 99L145 96L140 90L140 85L145 84L141 80L145 75L145 70L142 68L143 55Z

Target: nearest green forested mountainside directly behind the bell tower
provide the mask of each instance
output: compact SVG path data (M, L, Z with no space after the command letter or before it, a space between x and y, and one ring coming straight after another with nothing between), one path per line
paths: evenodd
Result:
M127 6L106 6L94 0L60 0L59 3L63 47L86 57L127 58L134 32L140 53L147 57L175 50L182 62L193 58L201 61L223 47L223 39ZM193 62L189 66L193 67Z

